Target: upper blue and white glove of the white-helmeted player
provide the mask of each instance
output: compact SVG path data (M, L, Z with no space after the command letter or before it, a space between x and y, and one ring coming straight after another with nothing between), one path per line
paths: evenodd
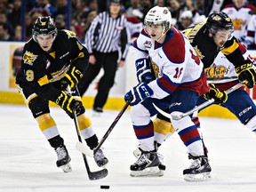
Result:
M155 79L155 76L151 72L150 61L148 59L144 58L136 60L135 66L136 75L139 83L145 82L146 84L148 84Z

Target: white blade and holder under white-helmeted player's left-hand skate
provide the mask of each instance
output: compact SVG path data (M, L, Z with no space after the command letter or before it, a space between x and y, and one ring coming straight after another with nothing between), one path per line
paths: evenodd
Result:
M130 175L132 177L161 177L164 175L164 171L160 170L158 166L154 166L141 171L132 171Z

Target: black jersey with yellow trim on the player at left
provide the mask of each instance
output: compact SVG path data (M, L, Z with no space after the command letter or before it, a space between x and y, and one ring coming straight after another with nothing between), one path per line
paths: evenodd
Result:
M76 66L84 72L88 66L89 53L69 30L59 30L51 52L44 52L40 45L30 39L24 45L21 68L16 76L16 84L29 86L46 100L56 100L60 90L52 83L60 81L69 68Z

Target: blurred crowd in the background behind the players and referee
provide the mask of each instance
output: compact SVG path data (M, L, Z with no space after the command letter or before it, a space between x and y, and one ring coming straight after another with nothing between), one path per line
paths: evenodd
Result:
M256 48L256 0L122 0L132 38L142 28L144 16L155 6L172 12L172 25L180 30L204 21L212 12L226 12L235 33L248 48ZM37 17L52 16L57 28L70 29L84 42L84 35L109 0L0 0L0 41L27 41Z

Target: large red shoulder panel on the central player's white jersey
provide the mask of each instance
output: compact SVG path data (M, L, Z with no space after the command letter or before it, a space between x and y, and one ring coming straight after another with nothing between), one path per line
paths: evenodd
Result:
M167 36L168 41L163 45L163 51L166 57L173 63L182 63L185 60L185 42L184 37L176 28Z

